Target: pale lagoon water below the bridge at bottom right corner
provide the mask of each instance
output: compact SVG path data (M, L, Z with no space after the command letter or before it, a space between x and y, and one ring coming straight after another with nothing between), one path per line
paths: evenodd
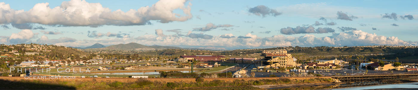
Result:
M402 83L402 84L339 87L339 88L333 88L332 90L367 90L367 89L382 89L382 88L418 88L418 82Z

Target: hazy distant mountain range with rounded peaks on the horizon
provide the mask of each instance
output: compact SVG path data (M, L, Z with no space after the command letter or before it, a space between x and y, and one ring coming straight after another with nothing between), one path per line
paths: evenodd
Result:
M70 46L71 47L71 46ZM102 44L96 43L89 47L72 47L78 49L91 49L91 48L108 48L108 49L115 49L115 50L133 50L138 48L157 48L157 49L187 49L187 50L210 50L210 49L202 49L202 48L181 48L181 47L172 47L172 46L160 46L160 45L141 45L135 42L131 42L128 44L118 44L118 45L110 45L104 46Z

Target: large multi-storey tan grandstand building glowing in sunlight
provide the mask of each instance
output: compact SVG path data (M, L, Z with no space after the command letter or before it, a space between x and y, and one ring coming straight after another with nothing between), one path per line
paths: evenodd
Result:
M293 58L291 54L288 54L286 50L280 50L276 52L264 52L260 56L264 56L263 60L267 62L273 62L272 65L266 67L294 67L297 66L296 58Z

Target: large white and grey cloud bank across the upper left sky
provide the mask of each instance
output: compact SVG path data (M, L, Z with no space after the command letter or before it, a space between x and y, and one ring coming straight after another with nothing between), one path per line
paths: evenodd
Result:
M182 13L173 13L179 9ZM44 29L34 27L33 23L51 26L89 26L102 25L130 26L147 25L150 20L160 23L186 21L193 17L191 3L186 0L160 0L151 6L112 11L100 3L85 0L64 1L59 7L49 7L49 3L38 3L28 11L14 10L9 4L0 2L0 24L11 23L18 29Z

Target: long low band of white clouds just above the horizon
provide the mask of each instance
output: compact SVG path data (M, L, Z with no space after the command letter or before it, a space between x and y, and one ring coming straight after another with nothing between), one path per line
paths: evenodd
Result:
M316 37L303 35L299 37L273 35L271 37L257 37L248 33L240 37L232 34L213 37L203 33L190 33L185 37L166 35L145 35L140 37L109 38L99 40L83 40L76 42L63 42L57 45L91 45L94 43L115 45L120 43L137 42L143 45L165 46L227 46L227 47L278 47L278 46L363 46L363 45L418 45L417 42L403 41L398 37L386 37L374 33L352 30L333 33L330 36Z

